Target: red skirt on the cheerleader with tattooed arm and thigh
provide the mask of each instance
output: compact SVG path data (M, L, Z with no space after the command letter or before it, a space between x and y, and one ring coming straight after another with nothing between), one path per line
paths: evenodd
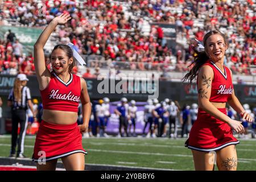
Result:
M218 110L226 114L225 108L218 108ZM233 131L228 123L212 117L199 108L197 120L191 128L185 147L209 152L238 143L239 141L234 138Z

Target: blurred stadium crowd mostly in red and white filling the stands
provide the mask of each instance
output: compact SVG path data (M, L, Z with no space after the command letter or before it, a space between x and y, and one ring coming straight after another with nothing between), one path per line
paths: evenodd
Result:
M57 28L56 40L73 43L82 55L103 59L88 60L90 67L184 72L192 61L188 42L202 41L213 29L228 37L225 64L233 72L249 75L248 68L256 64L256 6L251 0L27 0L2 1L0 6L2 25L43 28L60 13L71 14L69 24ZM175 48L168 46L163 28L154 22L175 24ZM1 73L34 74L32 53L24 55L22 49L11 32L0 40Z

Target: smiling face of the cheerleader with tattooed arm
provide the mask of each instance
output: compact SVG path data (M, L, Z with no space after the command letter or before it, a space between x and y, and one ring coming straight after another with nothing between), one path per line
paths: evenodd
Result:
M211 35L206 41L205 52L213 61L224 59L226 49L228 45L220 34Z

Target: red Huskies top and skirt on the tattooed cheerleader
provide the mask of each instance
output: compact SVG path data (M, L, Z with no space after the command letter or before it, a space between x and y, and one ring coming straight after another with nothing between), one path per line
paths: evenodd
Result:
M213 61L208 60L204 65L209 65L214 72L209 101L227 102L234 90L229 68L224 66L223 73ZM218 110L226 114L226 108L218 108ZM199 108L197 120L191 128L185 146L193 150L209 152L238 143L239 141L233 137L233 131L228 123L212 117Z

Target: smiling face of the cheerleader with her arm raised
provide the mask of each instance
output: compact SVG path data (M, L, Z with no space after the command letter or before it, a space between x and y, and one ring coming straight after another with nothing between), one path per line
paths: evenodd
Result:
M51 64L55 73L68 72L69 64L73 63L73 58L68 57L63 49L57 48L52 51Z

